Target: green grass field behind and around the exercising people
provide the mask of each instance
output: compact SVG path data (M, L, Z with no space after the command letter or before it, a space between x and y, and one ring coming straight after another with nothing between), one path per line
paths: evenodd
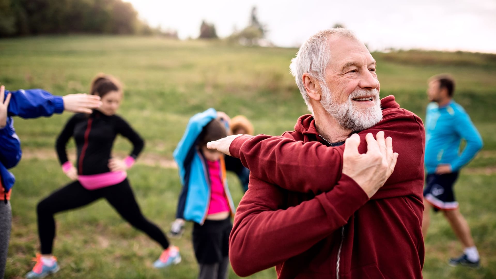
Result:
M88 90L98 72L111 73L125 85L120 109L146 139L146 163L130 170L129 179L145 215L164 230L174 219L180 190L177 170L159 161L172 158L187 120L208 107L231 116L244 114L255 133L280 135L306 113L289 74L296 49L247 48L223 42L171 41L152 37L67 36L0 40L0 82L7 89L44 88L54 94ZM381 96L394 94L402 107L424 118L426 80L449 72L457 80L455 99L469 112L484 139L484 149L462 172L456 185L482 256L482 268L451 268L446 260L460 244L440 214L433 216L426 239L426 279L496 278L496 55L404 51L372 54L377 60ZM50 119L16 119L25 151L13 169L13 227L5 278L21 278L39 249L36 204L68 182L55 159L55 137L70 114ZM73 146L71 144L71 146ZM118 139L116 151L130 145ZM72 149L71 149L72 150ZM154 159L156 163L154 163ZM243 195L228 176L238 204ZM180 246L183 263L157 271L152 262L160 248L125 223L106 202L57 216L54 253L62 270L53 278L195 278L191 224ZM237 278L231 271L230 278ZM269 269L251 278L275 278Z

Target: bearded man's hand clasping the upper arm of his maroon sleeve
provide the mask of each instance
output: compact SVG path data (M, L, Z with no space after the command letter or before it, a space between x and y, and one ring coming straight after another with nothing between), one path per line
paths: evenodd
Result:
M391 137L384 139L384 132L379 131L373 138L369 133L367 140L367 153L360 154L358 146L360 136L352 135L346 139L343 153L343 174L357 182L365 193L371 198L393 173L396 166L398 153L393 153Z

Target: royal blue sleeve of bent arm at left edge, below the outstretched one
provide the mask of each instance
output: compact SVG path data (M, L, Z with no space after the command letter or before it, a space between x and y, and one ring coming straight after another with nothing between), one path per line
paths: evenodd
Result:
M21 142L14 130L14 120L7 118L7 125L0 129L0 162L9 169L15 167L21 159Z

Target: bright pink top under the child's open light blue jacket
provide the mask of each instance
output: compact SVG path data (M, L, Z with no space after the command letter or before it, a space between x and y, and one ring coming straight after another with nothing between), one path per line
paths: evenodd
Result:
M210 175L210 205L207 214L230 211L229 204L224 191L224 183L220 175L219 161L207 161L208 173Z

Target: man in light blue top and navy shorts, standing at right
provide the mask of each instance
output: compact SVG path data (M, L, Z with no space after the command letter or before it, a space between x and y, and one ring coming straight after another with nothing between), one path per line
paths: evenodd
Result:
M454 80L448 75L429 79L427 94L432 103L427 107L424 189L424 238L429 227L429 211L442 210L454 233L460 239L464 253L449 260L451 266L478 267L479 253L467 221L458 209L453 184L459 170L482 148L482 139L465 110L453 101ZM461 139L467 144L459 154Z

